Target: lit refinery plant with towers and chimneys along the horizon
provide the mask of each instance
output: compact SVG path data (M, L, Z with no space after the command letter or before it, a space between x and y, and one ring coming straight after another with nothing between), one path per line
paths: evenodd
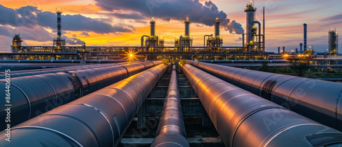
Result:
M155 18L150 18L150 34L143 35L141 46L66 46L62 38L62 10L56 9L57 14L57 38L53 40L53 46L22 46L19 35L14 36L12 52L16 55L0 55L3 59L42 59L42 60L112 60L124 59L127 53L136 53L135 57L140 60L153 59L241 59L241 60L262 60L267 59L272 53L265 52L265 36L261 34L261 23L255 21L254 2L246 5L247 18L246 44L242 40L241 46L223 46L220 36L220 18L213 18L214 32L205 35L203 46L193 46L194 39L190 35L190 19L185 18L185 34L176 37L174 46L165 46L164 38L157 36ZM263 32L265 32L265 18L263 21ZM259 29L257 28L257 26ZM31 53L31 54L27 54ZM46 55L33 55L34 53L46 53ZM58 54L56 54L58 53ZM63 54L64 53L64 54ZM77 53L78 56L68 55Z

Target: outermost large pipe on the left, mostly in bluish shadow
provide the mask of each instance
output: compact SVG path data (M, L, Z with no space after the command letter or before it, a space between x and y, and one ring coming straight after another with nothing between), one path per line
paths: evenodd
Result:
M11 78L11 126L131 77L157 64L161 64L161 62L123 64ZM5 83L5 79L1 79L0 87L5 88ZM5 95L5 90L0 90L0 95ZM5 111L5 104L7 104L5 101L0 101L0 120L5 120L8 114ZM5 128L5 125L0 126L1 131Z

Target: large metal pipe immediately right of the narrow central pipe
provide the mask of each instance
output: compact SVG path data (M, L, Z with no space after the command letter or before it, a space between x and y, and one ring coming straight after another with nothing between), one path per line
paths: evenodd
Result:
M226 146L329 146L342 133L242 90L189 64L181 66Z

